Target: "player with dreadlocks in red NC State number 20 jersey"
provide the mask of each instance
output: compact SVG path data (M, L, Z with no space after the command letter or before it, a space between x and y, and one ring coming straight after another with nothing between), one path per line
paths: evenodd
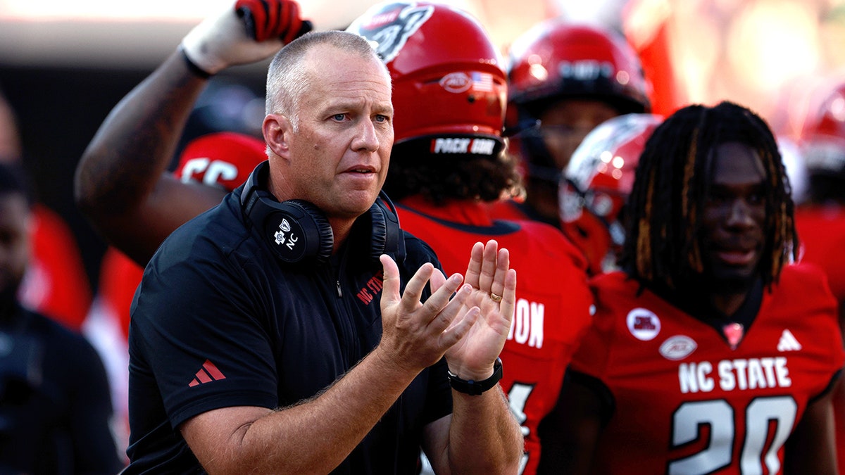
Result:
M542 467L836 473L837 303L820 270L793 263L766 123L730 102L675 112L646 143L626 212L623 270L591 281L594 324L541 428L559 443Z

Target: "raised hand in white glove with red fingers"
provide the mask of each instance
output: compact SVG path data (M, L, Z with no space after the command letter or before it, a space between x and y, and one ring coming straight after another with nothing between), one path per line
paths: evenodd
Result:
M213 75L271 57L312 27L293 0L238 0L195 26L181 48L194 66Z

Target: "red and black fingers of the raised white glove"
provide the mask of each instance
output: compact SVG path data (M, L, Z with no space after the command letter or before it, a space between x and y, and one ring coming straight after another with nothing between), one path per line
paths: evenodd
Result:
M287 44L313 30L310 21L299 17L299 4L293 0L237 0L237 16L255 41L279 38Z

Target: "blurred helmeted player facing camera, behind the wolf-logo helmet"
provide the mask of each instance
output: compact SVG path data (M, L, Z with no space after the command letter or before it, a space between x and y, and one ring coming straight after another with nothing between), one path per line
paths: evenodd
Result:
M493 213L558 227L558 182L575 148L611 117L649 112L651 85L624 37L564 19L526 31L509 57L506 134L526 189Z

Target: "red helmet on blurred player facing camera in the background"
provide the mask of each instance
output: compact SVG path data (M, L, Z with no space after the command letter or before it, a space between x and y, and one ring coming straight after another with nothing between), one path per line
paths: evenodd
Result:
M545 20L514 41L508 80L519 115L537 117L566 97L605 101L620 114L651 110L651 84L624 37L564 19Z

